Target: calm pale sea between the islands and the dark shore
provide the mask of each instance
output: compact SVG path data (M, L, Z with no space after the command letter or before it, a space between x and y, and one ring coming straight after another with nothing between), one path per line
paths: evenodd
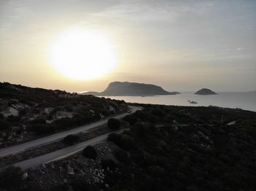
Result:
M109 98L124 100L140 104L165 104L176 106L221 106L241 108L256 112L256 93L247 92L219 92L218 95L195 95L194 93L181 93L178 95L156 96L111 96ZM188 101L196 101L190 104Z

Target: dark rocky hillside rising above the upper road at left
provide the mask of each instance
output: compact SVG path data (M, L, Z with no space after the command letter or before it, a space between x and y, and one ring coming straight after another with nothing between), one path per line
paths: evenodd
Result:
M124 101L0 83L0 147L124 111Z

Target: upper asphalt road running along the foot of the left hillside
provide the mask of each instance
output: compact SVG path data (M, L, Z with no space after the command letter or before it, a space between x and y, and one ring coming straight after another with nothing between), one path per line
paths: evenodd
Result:
M138 106L129 106L129 108L130 108L131 112L127 112L127 113L124 113L124 114L118 114L113 118L120 119L120 118L126 116L127 114L134 113L134 112L141 109ZM18 152L23 152L24 150L30 149L32 147L38 147L39 145L49 144L53 141L58 141L59 139L64 139L65 136L68 136L70 134L76 134L76 133L83 132L85 130L89 130L91 128L96 128L99 125L104 125L105 123L107 123L109 119L110 119L110 117L108 117L104 120L99 120L98 122L93 122L93 123L90 123L88 125L80 126L78 128L63 131L61 133L56 133L56 134L53 134L53 135L50 135L50 136L45 136L45 137L42 137L40 139L36 139L34 141L29 141L29 142L26 142L26 143L23 143L23 144L18 144L18 145L12 146L12 147L7 147L7 148L4 148L4 149L0 149L0 157L4 157L4 156L7 156L7 155L12 155L12 154L15 154L15 153L18 153Z

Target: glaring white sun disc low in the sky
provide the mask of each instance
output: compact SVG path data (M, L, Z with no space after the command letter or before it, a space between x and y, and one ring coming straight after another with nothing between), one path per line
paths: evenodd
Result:
M95 79L114 69L116 53L108 38L97 31L72 29L50 47L50 61L72 79Z

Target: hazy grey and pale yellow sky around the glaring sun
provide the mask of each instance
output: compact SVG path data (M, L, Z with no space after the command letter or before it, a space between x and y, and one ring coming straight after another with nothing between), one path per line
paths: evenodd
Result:
M69 92L113 81L256 90L255 10L255 0L0 0L0 82ZM49 47L74 27L108 36L113 71L86 80L56 71Z

